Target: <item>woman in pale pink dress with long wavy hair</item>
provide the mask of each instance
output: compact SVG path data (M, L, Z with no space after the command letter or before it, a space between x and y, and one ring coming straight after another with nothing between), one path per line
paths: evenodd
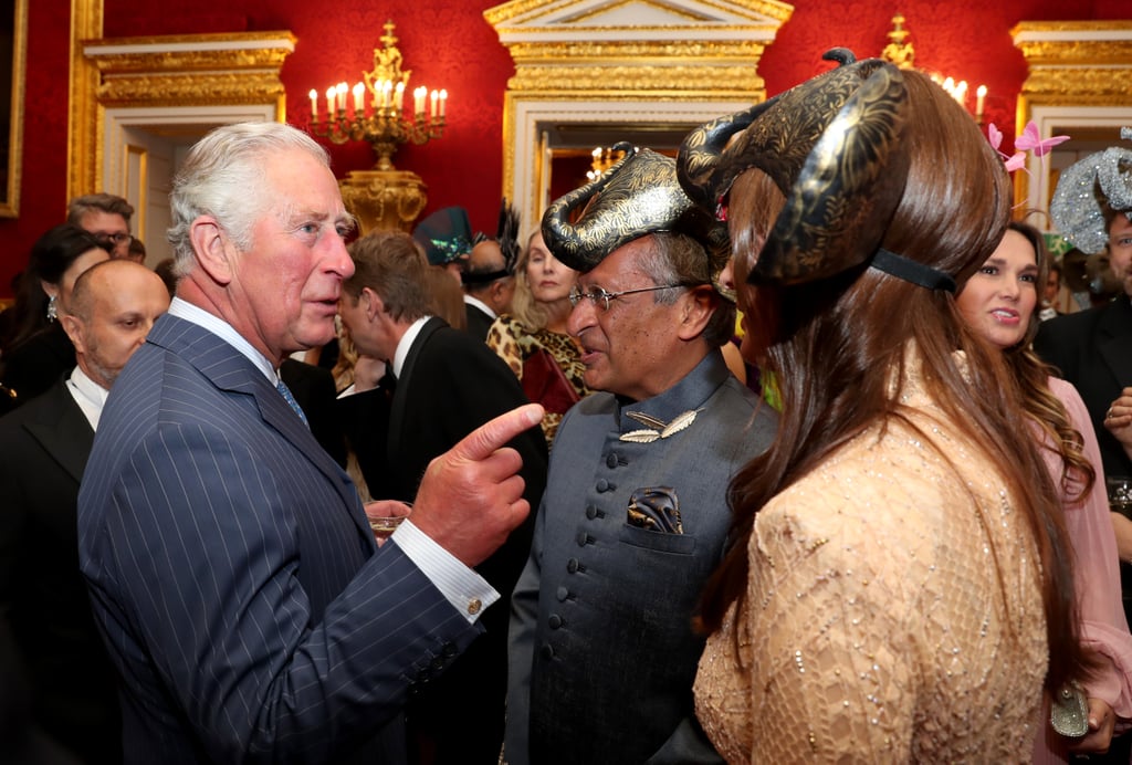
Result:
M1024 223L1011 223L1002 243L955 299L967 324L1002 349L1021 386L1065 509L1081 642L1099 657L1092 677L1081 684L1089 699L1089 732L1080 739L1056 733L1047 703L1035 763L1066 762L1070 751L1105 751L1114 724L1124 728L1132 722L1132 635L1121 603L1116 539L1097 436L1077 388L1053 377L1030 347L1038 330L1037 285L1045 284L1048 268L1041 234Z

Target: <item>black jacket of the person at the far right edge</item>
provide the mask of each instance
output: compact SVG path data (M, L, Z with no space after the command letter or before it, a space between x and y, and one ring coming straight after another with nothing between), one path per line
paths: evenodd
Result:
M1034 350L1081 394L1097 431L1105 475L1132 476L1132 461L1108 429L1105 413L1132 386L1132 303L1107 306L1043 321Z

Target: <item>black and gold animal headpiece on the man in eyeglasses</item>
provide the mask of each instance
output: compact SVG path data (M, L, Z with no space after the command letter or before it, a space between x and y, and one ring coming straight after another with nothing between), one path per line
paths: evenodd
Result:
M601 178L556 199L542 216L547 249L564 264L589 272L614 250L652 233L685 234L706 252L712 284L730 257L727 226L697 207L676 180L676 161L628 143L614 147L625 156ZM571 218L582 209L577 220Z

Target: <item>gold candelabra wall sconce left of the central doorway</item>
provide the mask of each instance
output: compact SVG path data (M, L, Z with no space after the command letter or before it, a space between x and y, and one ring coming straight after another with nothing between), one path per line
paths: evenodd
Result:
M310 130L334 144L368 141L377 154L372 170L355 170L338 182L342 200L362 234L401 229L411 231L428 203L428 188L417 173L393 166L402 144L418 146L444 135L448 92L421 86L412 92L413 110L406 113L405 92L412 70L402 70L395 25L385 23L381 48L374 49L374 69L362 72L365 84L338 83L326 89L325 119L318 91L310 92Z

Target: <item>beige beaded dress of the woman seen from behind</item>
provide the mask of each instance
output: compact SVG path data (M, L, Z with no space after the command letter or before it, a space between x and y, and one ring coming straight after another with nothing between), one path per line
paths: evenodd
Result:
M1047 661L1035 544L918 380L902 403L923 432L863 433L756 518L746 603L695 682L729 763L1030 757Z

